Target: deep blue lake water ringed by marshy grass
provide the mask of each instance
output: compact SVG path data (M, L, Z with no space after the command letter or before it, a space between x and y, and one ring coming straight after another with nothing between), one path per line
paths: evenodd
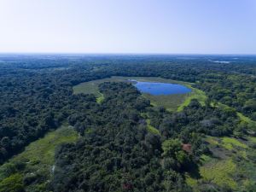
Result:
M151 94L153 96L184 94L191 92L188 87L181 84L154 83L135 80L131 81L135 82L134 86L136 86L138 90L143 93Z

